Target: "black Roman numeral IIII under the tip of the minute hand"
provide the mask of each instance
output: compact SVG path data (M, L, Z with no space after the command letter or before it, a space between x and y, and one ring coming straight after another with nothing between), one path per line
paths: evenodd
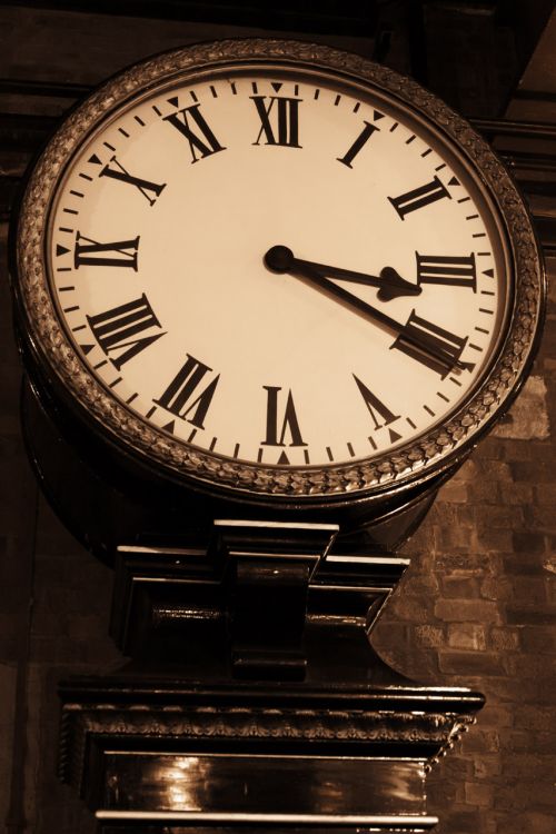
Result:
M430 370L440 374L444 379L450 373L455 363L459 360L466 344L467 336L465 338L456 336L449 330L420 318L415 314L415 310L411 310L411 315L391 348L401 350L411 359L416 359ZM464 366L467 370L475 368L473 363L464 363Z

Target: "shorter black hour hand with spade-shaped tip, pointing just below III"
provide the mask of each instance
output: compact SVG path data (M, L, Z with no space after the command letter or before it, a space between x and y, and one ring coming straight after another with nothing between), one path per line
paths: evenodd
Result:
M380 301L390 301L398 296L418 296L421 291L418 285L406 281L393 267L384 267L379 276L366 275L365 272L356 272L353 269L331 267L327 264L317 264L312 260L301 260L300 258L296 258L291 249L287 246L272 246L265 256L265 264L275 272L294 274L296 270L302 272L304 269L312 268L322 276L327 275L338 280L364 284L367 287L379 287L377 297Z

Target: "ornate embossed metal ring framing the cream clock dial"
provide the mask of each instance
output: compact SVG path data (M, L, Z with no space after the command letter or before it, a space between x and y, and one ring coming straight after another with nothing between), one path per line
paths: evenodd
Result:
M515 277L515 295L498 356L456 414L405 447L350 464L280 467L231 460L187 446L119 404L86 368L61 326L49 292L44 258L48 212L64 167L91 130L136 96L182 75L224 66L270 63L378 89L430 123L473 169L499 211ZM26 338L46 376L61 384L117 447L173 479L254 498L320 504L384 494L441 470L464 454L512 401L530 365L544 309L544 271L524 202L489 146L460 117L413 80L355 54L311 43L250 39L187 47L146 60L108 81L63 123L39 159L22 199L17 242L17 294Z

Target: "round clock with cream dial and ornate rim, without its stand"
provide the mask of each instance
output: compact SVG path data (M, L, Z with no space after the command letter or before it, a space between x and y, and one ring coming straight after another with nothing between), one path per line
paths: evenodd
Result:
M30 173L16 248L39 387L127 465L254 506L373 506L453 471L524 381L545 295L467 122L281 40L93 92Z

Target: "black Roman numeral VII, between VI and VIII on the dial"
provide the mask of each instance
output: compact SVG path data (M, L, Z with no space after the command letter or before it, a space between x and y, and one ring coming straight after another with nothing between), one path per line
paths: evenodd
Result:
M208 365L187 354L185 365L155 403L197 428L205 428L205 418L220 379L218 374L202 388L201 383L211 370Z

